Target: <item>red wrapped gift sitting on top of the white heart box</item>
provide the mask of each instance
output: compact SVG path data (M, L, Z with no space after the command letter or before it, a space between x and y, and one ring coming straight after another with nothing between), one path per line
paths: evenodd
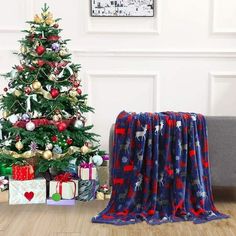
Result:
M34 167L32 165L13 165L12 178L14 180L34 179Z

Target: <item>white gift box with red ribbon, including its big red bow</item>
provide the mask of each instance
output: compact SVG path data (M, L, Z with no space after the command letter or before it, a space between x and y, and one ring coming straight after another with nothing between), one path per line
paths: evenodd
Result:
M70 173L56 176L49 186L49 197L54 198L54 194L59 194L61 199L74 199L78 196L78 180L72 179Z

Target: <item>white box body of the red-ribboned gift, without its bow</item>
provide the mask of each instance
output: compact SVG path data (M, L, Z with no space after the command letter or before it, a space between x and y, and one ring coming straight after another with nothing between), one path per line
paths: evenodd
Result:
M53 180L50 181L49 196L51 198L54 193L59 193L61 194L62 199L73 199L78 196L78 187L78 180L71 180L71 182L68 181L61 183L59 181Z

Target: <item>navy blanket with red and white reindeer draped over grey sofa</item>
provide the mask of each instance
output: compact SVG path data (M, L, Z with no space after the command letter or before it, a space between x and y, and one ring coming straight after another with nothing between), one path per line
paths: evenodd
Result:
M123 111L115 124L112 160L112 197L93 223L228 218L213 203L203 115Z

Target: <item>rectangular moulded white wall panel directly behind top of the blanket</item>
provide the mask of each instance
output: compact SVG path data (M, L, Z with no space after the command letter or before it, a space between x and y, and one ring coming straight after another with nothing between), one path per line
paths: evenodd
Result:
M101 145L107 148L107 135L122 110L153 112L159 109L158 76L150 73L88 72L88 102L96 108L89 122L101 134Z

